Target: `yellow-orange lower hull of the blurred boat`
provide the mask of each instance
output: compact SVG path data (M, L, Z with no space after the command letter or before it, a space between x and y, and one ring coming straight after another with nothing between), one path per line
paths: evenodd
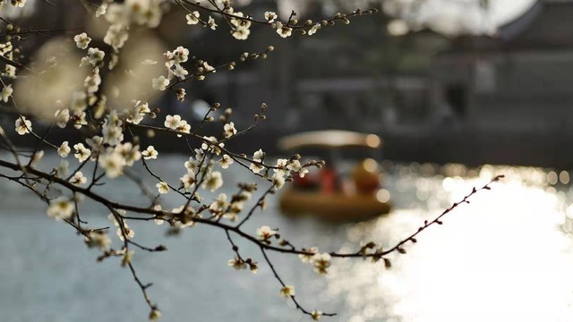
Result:
M331 221L361 221L388 214L391 204L370 195L325 194L289 189L281 194L279 208L287 216L309 215Z

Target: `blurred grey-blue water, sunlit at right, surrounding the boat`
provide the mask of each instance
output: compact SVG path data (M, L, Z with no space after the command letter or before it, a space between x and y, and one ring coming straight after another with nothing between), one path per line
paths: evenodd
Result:
M175 180L183 157L152 164ZM270 199L246 230L260 225L301 246L355 250L362 241L391 245L482 186L496 174L506 178L481 191L392 257L393 267L362 259L334 260L321 277L295 256L271 254L287 284L308 309L337 312L332 321L572 321L573 190L569 173L540 168L484 165L385 163L386 188L395 208L359 224L332 225L289 219ZM249 179L238 167L226 182ZM154 182L153 182L154 183ZM226 185L227 187L227 185ZM228 185L230 187L230 184ZM230 189L230 188L229 188ZM230 191L230 190L229 190ZM114 199L137 198L133 183L107 185ZM167 197L166 203L175 201ZM97 263L71 227L46 216L28 191L0 180L0 320L144 321L139 288L115 258ZM107 212L87 207L90 225L109 225ZM169 249L137 251L133 263L164 321L306 321L280 286L261 253L236 239L244 256L261 263L257 275L227 267L233 257L223 232L197 226L166 237L166 227L130 224L135 241Z

